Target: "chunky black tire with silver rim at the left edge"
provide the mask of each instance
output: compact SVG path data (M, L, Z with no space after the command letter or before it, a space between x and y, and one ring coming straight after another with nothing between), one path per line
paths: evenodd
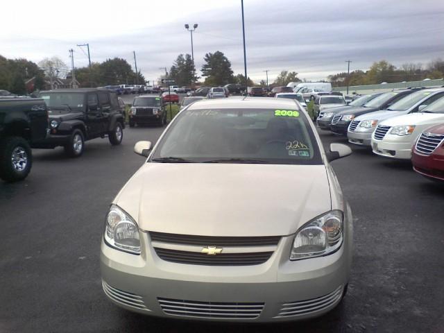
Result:
M6 137L0 146L0 178L16 182L28 176L33 155L28 142L22 137Z

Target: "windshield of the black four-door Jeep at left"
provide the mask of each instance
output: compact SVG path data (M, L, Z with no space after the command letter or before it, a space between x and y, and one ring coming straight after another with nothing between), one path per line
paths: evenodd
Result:
M77 92L43 92L40 97L44 99L49 112L83 111L85 94Z

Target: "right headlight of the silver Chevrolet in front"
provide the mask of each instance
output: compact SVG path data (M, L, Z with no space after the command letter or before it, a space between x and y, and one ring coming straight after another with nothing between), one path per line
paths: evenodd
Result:
M298 230L290 260L321 257L334 253L343 241L343 212L332 210Z

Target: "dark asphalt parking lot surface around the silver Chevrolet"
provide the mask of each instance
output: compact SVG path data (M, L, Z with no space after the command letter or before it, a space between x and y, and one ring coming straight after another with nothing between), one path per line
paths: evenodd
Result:
M444 332L444 187L409 162L353 147L332 162L355 218L348 296L302 323L160 320L112 305L101 290L105 212L144 162L135 142L163 128L126 128L123 144L87 142L82 157L34 150L30 176L0 182L0 332ZM323 143L345 139L321 133ZM173 198L171 198L173 200Z

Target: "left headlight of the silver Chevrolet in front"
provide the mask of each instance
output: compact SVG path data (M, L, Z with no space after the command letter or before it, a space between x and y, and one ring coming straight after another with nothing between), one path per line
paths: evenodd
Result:
M106 243L119 250L140 254L139 228L131 216L116 205L110 207L105 225Z

